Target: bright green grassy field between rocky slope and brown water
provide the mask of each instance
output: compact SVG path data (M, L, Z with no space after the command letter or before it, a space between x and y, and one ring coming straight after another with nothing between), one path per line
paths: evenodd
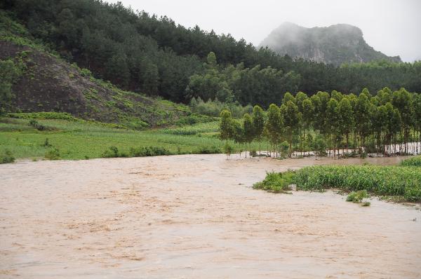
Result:
M222 152L225 144L218 138L218 121L139 131L67 116L50 119L20 116L0 119L0 154L8 150L15 158L41 159L48 151L58 149L60 158L77 160L101 158L112 146L127 154L131 148L140 147L159 147L171 154L200 154L210 148ZM236 151L243 149L234 142L230 144ZM258 149L258 144L254 148Z

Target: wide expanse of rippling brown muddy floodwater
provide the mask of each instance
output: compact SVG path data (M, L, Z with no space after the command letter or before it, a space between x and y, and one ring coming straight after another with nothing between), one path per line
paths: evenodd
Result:
M224 155L0 165L0 278L421 278L421 211L251 189L270 170L399 158Z

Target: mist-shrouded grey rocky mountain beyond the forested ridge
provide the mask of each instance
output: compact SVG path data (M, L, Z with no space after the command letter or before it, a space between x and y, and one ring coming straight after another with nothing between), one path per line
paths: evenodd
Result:
M284 22L260 46L268 46L280 55L335 65L373 60L401 62L399 56L389 57L369 46L361 29L345 24L306 28Z

